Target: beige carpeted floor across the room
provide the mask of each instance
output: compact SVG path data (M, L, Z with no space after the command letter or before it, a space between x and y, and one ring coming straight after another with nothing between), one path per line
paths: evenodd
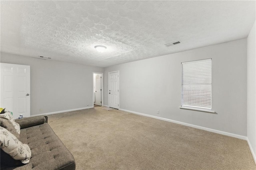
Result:
M76 169L256 169L246 140L119 110L48 115Z

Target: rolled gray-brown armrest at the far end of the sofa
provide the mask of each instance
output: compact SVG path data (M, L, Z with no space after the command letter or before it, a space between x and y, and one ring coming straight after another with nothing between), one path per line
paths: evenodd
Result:
M48 117L35 116L35 117L24 117L22 119L15 119L15 122L20 125L20 128L28 128L36 125L47 123Z

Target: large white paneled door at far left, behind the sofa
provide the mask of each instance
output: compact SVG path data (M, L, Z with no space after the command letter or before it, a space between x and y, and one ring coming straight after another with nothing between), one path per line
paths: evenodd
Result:
M30 66L0 63L0 107L30 117Z

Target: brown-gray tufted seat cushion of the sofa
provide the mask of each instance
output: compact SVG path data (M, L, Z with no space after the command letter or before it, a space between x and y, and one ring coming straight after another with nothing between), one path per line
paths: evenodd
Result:
M31 149L30 163L6 169L71 170L76 167L74 157L48 123L21 129L20 141Z

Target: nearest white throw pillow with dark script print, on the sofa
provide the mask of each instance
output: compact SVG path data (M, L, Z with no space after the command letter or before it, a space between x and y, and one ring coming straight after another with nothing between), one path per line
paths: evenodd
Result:
M20 160L23 164L29 163L31 157L29 146L20 142L18 138L3 127L0 127L0 147L15 160Z

